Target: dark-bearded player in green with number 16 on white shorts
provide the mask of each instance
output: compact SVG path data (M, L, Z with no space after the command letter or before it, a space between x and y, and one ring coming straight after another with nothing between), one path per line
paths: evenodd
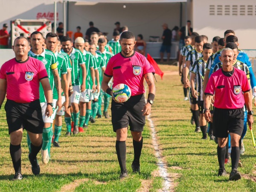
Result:
M85 90L85 81L86 81L86 68L83 55L81 51L78 49L73 48L73 43L71 39L67 36L61 38L62 49L66 52L71 60L72 72L71 72L71 79L72 79L72 86L73 86L73 94L70 97L73 116L74 116L74 129L73 134L78 134L78 120L79 120L79 99L80 93ZM80 73L81 70L81 73ZM80 79L80 76L81 79ZM69 107L66 110L66 113L71 113L71 108ZM71 116L71 114L70 114ZM70 125L71 122L67 122L67 125ZM70 131L70 132L69 132ZM68 130L66 135L70 135L71 130Z

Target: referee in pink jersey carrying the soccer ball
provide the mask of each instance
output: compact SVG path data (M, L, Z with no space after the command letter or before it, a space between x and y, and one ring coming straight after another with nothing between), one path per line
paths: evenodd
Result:
M131 164L133 172L140 173L140 154L143 145L142 131L145 125L145 116L151 112L154 94L154 67L147 59L134 51L136 44L132 32L123 32L119 43L122 51L114 55L108 62L102 90L112 96L111 114L113 131L116 132L116 154L121 169L120 179L128 177L126 169L126 144L128 127L130 127L134 146L134 160ZM119 103L113 98L108 82L113 77L113 87L117 84L127 84L131 89L131 98L127 102ZM148 100L145 103L143 93L144 78L148 84Z

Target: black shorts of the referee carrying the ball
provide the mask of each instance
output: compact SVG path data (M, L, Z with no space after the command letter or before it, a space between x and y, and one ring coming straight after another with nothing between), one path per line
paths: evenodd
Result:
M127 102L117 103L112 100L111 114L113 131L130 126L131 131L143 131L145 116L143 107L145 106L144 95L131 96Z

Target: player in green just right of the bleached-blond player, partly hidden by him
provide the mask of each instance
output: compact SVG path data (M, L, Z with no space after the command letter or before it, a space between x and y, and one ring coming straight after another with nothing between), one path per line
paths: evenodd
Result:
M101 93L101 82L102 82L102 77L103 77L103 73L105 72L105 63L104 60L102 58L102 56L100 56L99 54L96 53L96 46L93 42L90 42L90 52L92 54L92 59L94 62L94 65L96 66L96 69L99 70L99 81L96 81L96 85L97 85L97 90L96 92L93 94L93 102L92 102L92 119L91 119L91 123L95 122L95 117L96 114L98 112L98 108L99 108L99 98L102 98L102 96L100 96Z

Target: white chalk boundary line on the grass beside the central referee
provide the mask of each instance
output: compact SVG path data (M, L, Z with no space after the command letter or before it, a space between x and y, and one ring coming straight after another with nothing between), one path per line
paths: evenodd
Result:
M151 134L151 137L152 137L152 144L154 146L154 150L156 152L156 157L157 157L157 160L158 160L157 166L159 167L159 175L164 179L163 192L168 192L173 183L170 180L170 176L167 172L166 163L164 163L163 160L162 160L161 151L160 151L159 145L157 143L157 132L156 132L155 127L154 127L154 122L152 121L150 116L151 116L151 114L149 114L147 116L147 119L148 119L150 129L151 129L150 134Z

